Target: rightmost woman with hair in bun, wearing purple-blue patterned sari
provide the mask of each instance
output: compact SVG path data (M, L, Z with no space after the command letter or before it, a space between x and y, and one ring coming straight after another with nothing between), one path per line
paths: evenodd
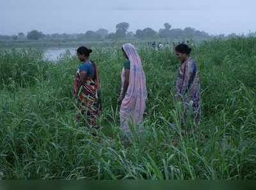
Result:
M191 48L186 44L180 44L175 48L175 54L181 62L175 97L184 102L186 108L184 119L189 112L189 103L192 103L193 116L196 122L200 122L200 80L196 62L190 57L190 52ZM184 119L182 121L183 124Z

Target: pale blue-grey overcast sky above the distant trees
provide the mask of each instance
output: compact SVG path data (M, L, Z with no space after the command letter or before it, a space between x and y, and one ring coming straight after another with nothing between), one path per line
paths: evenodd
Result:
M0 34L113 32L119 22L133 32L169 22L209 34L248 34L256 31L255 7L255 0L0 0Z

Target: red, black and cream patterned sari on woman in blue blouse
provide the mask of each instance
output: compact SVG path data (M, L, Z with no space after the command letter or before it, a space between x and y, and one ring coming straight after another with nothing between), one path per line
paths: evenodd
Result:
M88 77L86 82L82 84L79 89L78 84L81 80L81 71L78 69L74 81L73 94L77 94L78 92L77 107L79 109L79 113L77 113L77 115L82 114L85 118L87 118L88 124L90 124L93 128L98 128L97 118L102 110L99 97L100 80L97 64L95 62L92 62L92 64L95 68L95 77Z

